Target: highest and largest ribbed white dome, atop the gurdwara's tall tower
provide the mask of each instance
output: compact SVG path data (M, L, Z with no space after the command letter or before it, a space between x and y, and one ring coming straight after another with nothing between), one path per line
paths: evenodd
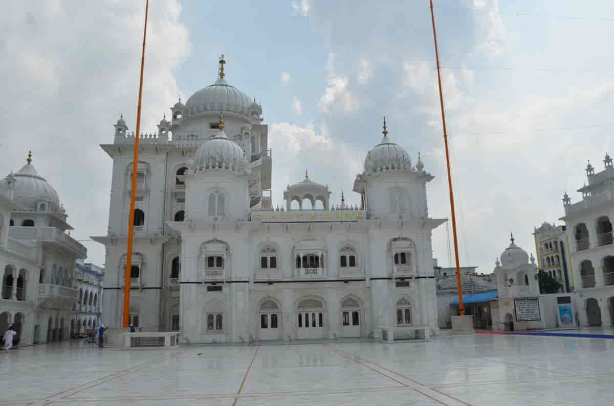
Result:
M192 94L185 103L185 109L188 115L222 110L247 115L249 105L251 99L222 78Z

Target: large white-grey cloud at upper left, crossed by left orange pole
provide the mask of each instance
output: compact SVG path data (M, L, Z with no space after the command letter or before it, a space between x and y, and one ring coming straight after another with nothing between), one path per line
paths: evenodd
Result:
M180 13L176 0L149 10L144 131L155 129L180 93L174 71L190 50ZM20 169L32 150L79 240L107 232L111 159L98 144L113 142L122 112L134 129L143 20L141 2L15 2L0 15L0 109L10 111L0 170ZM102 265L103 245L84 244Z

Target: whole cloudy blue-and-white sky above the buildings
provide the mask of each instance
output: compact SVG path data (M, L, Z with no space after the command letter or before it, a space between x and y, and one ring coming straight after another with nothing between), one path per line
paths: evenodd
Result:
M428 2L375 4L152 0L144 130L214 82L223 53L228 81L262 103L274 204L305 169L358 204L349 190L386 115L436 176L430 215L449 217ZM563 192L581 198L586 159L601 168L614 151L614 4L590 4L435 1L462 265L490 272L510 232L534 251ZM79 240L106 234L111 159L98 144L120 113L134 129L143 15L144 0L13 2L0 15L0 170L33 150ZM84 244L103 264L104 248ZM445 225L433 247L448 266Z

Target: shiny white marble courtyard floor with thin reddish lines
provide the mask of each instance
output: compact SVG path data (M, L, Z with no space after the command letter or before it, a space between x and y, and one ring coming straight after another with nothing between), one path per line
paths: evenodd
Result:
M614 339L476 334L146 351L72 340L3 351L0 373L0 406L613 405Z

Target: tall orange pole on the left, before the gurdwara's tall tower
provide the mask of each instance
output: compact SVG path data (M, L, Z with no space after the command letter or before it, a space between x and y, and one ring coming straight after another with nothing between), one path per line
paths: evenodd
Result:
M141 136L141 96L143 93L143 69L145 67L145 39L147 37L147 12L149 0L145 3L145 28L143 29L143 50L141 55L141 80L139 82L139 104L136 107L136 137L134 137L134 163L132 165L132 189L130 191L130 217L128 218L128 250L126 251L126 275L123 291L122 325L130 324L130 269L132 268L132 240L134 237L134 197L136 194L136 177L139 167L139 137Z

